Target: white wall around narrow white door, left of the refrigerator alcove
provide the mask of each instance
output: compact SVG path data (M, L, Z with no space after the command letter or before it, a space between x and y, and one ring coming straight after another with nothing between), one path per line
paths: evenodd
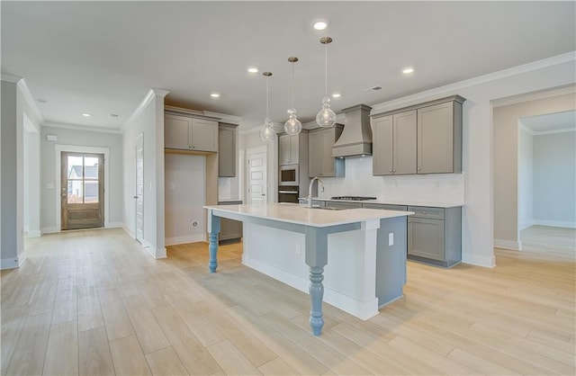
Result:
M136 228L136 138L144 139L144 228L142 246L156 258L166 257L164 208L164 97L150 90L123 126L123 227L134 237Z

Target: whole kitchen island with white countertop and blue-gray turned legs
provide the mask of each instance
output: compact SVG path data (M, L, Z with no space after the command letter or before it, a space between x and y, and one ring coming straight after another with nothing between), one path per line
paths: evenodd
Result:
M322 301L367 319L402 296L406 283L407 211L211 205L209 269L218 267L220 217L243 222L242 263L311 296L314 336L324 326Z

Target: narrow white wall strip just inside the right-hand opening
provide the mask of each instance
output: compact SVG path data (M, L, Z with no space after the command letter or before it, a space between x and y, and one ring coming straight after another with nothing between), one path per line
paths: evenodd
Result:
M533 136L518 127L518 230L530 227L534 220Z

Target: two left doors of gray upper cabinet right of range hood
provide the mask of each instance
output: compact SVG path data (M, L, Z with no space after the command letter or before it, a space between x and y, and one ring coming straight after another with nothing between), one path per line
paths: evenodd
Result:
M373 175L416 174L416 111L374 119Z

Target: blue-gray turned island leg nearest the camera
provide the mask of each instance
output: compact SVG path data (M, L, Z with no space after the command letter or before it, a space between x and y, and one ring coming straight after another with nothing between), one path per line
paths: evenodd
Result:
M324 266L328 264L328 233L323 228L306 228L306 264L310 266L310 326L314 336L322 334L324 318L322 300L324 298Z

